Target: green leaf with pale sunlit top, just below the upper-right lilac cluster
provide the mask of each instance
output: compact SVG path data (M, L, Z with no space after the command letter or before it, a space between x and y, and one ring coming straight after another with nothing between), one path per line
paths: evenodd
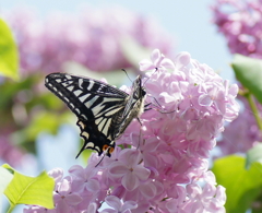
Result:
M231 66L237 80L262 104L262 60L235 55Z

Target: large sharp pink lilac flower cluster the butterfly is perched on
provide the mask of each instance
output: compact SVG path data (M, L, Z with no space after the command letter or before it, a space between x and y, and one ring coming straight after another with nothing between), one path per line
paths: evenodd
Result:
M85 168L75 165L67 177L51 170L56 209L46 212L225 212L225 188L216 186L207 157L224 121L238 115L238 86L188 52L172 62L156 49L140 68L148 71L143 85L153 108L141 116L143 126L133 121L117 140L122 149L97 167L93 154ZM24 213L41 211L28 206Z

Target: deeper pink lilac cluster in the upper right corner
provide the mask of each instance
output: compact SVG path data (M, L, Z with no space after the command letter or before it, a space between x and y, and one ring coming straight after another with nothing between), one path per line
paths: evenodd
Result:
M261 0L216 0L212 10L233 54L262 58Z

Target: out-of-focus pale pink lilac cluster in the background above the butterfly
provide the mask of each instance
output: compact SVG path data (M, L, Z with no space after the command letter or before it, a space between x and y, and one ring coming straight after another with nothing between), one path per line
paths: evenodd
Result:
M66 61L95 71L129 68L122 51L127 37L143 47L157 46L165 54L172 50L171 37L155 20L122 8L86 8L79 15L56 13L45 21L32 11L17 10L7 21L17 39L23 73L59 72Z

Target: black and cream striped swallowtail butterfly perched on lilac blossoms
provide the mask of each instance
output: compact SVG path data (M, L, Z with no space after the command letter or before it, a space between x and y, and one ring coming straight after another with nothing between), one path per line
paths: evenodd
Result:
M144 110L146 92L141 75L132 83L130 94L94 79L67 73L47 75L45 85L78 117L84 144L76 158L85 149L110 157L115 141Z

